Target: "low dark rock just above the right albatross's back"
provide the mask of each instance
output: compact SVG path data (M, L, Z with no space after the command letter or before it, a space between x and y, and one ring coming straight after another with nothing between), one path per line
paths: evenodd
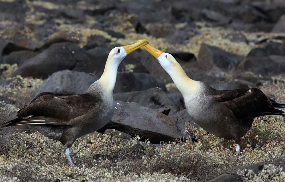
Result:
M253 85L253 83L251 83L251 85ZM237 88L249 88L248 82L242 82L239 80L233 80L229 82L215 82L210 84L210 86L217 90L234 90Z

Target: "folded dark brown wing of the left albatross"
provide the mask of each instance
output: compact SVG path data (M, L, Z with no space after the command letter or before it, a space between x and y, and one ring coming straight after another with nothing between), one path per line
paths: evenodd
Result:
M3 125L4 127L23 124L68 125L69 120L86 114L97 102L98 100L89 94L43 92L17 112L19 118Z

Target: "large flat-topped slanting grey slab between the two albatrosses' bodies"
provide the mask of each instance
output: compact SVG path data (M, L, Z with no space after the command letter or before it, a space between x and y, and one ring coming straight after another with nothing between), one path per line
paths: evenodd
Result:
M149 138L152 143L173 141L180 138L172 118L156 110L136 103L115 101L115 114L112 120L98 132L116 129L141 140Z

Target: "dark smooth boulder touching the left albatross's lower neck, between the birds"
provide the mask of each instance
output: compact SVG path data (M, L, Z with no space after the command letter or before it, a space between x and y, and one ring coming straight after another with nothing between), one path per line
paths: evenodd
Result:
M133 92L160 87L166 91L164 82L146 73L119 72L114 93Z

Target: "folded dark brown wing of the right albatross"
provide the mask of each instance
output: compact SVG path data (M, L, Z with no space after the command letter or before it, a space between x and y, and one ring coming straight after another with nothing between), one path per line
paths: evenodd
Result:
M282 114L283 111L274 108L272 105L273 100L269 100L257 88L218 90L213 97L217 102L229 109L237 119L248 120L270 114L284 116Z

